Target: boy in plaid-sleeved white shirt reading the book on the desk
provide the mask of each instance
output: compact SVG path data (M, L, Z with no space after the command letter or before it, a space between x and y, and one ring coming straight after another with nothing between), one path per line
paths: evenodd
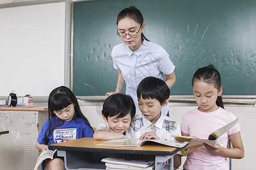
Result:
M174 140L171 135L181 135L177 122L161 113L169 103L170 90L166 83L152 76L144 78L137 89L141 113L133 117L127 130L128 138ZM181 165L181 157L174 155L174 167Z

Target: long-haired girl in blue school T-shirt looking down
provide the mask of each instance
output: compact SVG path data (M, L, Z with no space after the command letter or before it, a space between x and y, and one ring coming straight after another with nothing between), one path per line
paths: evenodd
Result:
M49 95L48 117L36 141L40 151L49 150L48 145L93 137L93 129L83 116L77 98L68 87L55 88ZM42 163L42 169L65 169L64 158L55 156Z

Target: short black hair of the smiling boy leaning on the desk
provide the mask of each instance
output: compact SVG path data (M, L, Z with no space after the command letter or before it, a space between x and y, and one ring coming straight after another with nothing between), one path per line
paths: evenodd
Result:
M131 96L124 94L114 94L104 101L102 114L108 119L108 117L117 116L116 118L122 118L131 113L133 118L136 113L135 104Z

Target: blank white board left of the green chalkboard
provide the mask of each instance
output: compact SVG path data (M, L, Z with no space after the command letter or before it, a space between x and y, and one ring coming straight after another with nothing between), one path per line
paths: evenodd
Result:
M64 84L65 2L0 8L0 23L0 96L48 96Z

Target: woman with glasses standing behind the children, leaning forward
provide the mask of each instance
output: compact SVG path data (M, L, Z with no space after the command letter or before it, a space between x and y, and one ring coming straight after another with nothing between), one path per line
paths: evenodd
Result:
M143 35L145 24L141 12L134 6L124 8L117 16L117 35L124 42L114 46L112 59L114 68L119 70L116 90L109 95L120 93L126 83L126 94L130 95L136 105L136 114L140 113L136 95L137 86L147 76L163 79L169 88L175 82L173 62L169 54L160 45L149 42ZM168 105L162 114L168 113Z

